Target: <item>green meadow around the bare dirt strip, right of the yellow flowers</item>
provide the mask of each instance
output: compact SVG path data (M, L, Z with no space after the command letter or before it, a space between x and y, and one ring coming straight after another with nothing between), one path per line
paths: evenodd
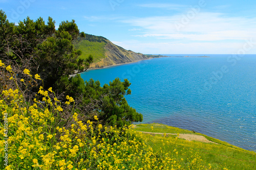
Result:
M203 134L162 124L140 124L134 130L143 131L143 133L139 133L144 141L153 148L153 152L173 155L180 167L186 167L184 169L256 169L255 152L241 149ZM168 133L172 133L172 135ZM177 138L178 133L180 133L179 136L182 134L204 136L209 141L189 141L181 137ZM194 164L191 163L193 160ZM200 164L207 164L208 167L202 168ZM176 167L174 169L183 168Z

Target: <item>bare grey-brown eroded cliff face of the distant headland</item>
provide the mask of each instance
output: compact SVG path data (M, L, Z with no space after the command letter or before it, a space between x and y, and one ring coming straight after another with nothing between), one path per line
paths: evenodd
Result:
M122 47L113 44L109 40L106 40L104 50L106 57L96 63L91 64L90 68L101 68L105 66L124 64L147 59L145 55L124 50Z

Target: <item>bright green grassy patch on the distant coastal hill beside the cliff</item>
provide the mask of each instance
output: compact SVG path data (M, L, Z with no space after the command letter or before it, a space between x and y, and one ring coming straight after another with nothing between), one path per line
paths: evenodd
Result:
M80 58L87 58L90 54L93 56L93 62L100 61L105 58L105 42L91 42L82 40L78 44L78 49L82 51Z

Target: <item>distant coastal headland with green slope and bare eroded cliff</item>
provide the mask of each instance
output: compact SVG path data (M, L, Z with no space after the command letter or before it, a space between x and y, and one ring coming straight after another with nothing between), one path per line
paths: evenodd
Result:
M93 56L94 61L90 68L136 62L148 58L141 53L127 51L104 37L90 34L79 39L77 47L82 51L81 58L86 58L90 54Z

